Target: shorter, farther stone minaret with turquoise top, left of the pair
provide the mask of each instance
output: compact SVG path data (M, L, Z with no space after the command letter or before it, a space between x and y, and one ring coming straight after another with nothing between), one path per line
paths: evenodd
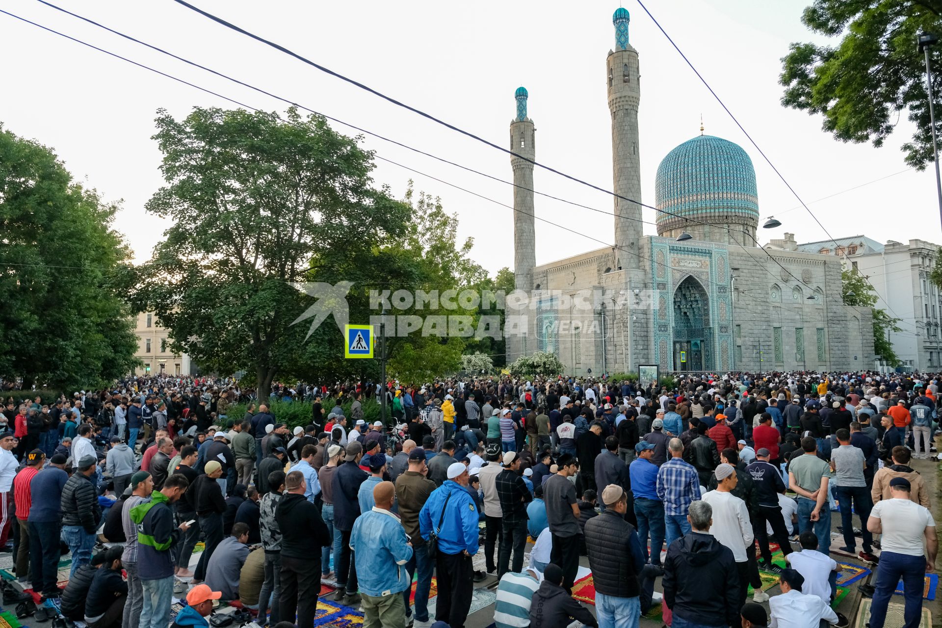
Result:
M533 289L533 266L536 266L536 235L533 230L533 121L527 117L527 89L514 94L517 115L511 122L511 151L526 157L512 156L513 168L513 277L517 290ZM530 161L528 161L528 159Z

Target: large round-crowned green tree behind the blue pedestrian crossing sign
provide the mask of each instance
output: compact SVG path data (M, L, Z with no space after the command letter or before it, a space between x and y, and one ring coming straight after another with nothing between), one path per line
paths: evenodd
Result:
M363 285L398 265L380 251L404 233L410 209L372 184L373 154L295 108L196 107L157 112L154 139L167 185L147 210L173 226L138 270L135 303L169 328L174 351L223 373L248 367L258 394L283 375L354 377L333 316L307 338L293 323L313 299L291 283ZM365 294L347 299L350 322ZM327 369L325 365L332 365Z

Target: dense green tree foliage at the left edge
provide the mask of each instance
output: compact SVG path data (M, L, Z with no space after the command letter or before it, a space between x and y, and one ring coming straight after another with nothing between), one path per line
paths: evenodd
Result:
M50 149L0 126L0 378L93 388L138 364L117 210Z

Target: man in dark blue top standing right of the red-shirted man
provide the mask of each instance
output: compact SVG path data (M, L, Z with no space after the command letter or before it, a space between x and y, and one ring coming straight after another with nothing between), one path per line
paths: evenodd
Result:
M26 518L30 538L29 561L33 570L33 590L41 592L43 598L59 595L56 587L62 533L59 496L69 480L65 464L65 456L56 454L49 460L49 467L29 484L30 507ZM130 624L125 625L130 628Z

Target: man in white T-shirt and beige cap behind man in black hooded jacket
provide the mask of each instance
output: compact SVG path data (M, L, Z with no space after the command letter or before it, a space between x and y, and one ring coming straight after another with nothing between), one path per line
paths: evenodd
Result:
M746 503L732 492L738 477L736 469L725 462L716 468L716 491L704 493L703 499L713 507L713 524L709 533L728 547L736 560L739 573L739 606L746 602L749 587L749 557L746 548L752 546L753 526L749 522Z

